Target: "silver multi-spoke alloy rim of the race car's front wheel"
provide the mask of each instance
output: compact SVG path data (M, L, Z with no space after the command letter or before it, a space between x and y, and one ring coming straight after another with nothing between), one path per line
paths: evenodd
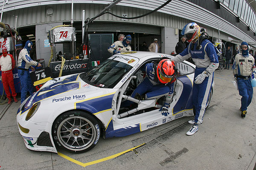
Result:
M58 126L57 136L69 150L79 151L90 147L97 137L93 123L81 116L64 119Z

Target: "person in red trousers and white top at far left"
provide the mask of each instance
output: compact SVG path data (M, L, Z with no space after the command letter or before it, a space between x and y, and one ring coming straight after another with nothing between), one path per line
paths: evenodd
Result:
M3 88L6 92L6 96L8 98L8 105L9 105L12 102L9 88L11 88L14 102L15 103L18 102L18 100L16 99L17 94L15 92L13 74L12 74L12 70L15 67L15 60L11 54L7 54L6 47L3 47L2 51L3 51L3 55L0 56L0 70L2 71Z

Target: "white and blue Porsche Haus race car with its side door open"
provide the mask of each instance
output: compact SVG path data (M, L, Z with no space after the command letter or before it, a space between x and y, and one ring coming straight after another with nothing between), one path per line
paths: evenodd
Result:
M195 65L176 64L177 83L169 115L160 108L165 96L137 100L132 92L143 80L140 69L172 56L151 52L125 52L113 55L93 70L46 82L29 96L17 111L17 124L30 150L57 153L61 147L73 153L92 149L100 139L127 136L193 116L192 86ZM212 96L209 94L207 106ZM124 108L122 102L137 103Z

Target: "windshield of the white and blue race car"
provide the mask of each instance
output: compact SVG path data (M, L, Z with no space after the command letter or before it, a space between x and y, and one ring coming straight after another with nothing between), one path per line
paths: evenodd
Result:
M113 88L132 68L124 62L107 59L93 70L80 74L80 78L90 85Z

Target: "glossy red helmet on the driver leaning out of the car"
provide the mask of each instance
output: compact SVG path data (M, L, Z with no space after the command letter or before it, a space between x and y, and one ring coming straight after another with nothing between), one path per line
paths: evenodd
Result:
M157 65L157 78L161 83L171 82L175 77L175 64L170 59L162 59Z

